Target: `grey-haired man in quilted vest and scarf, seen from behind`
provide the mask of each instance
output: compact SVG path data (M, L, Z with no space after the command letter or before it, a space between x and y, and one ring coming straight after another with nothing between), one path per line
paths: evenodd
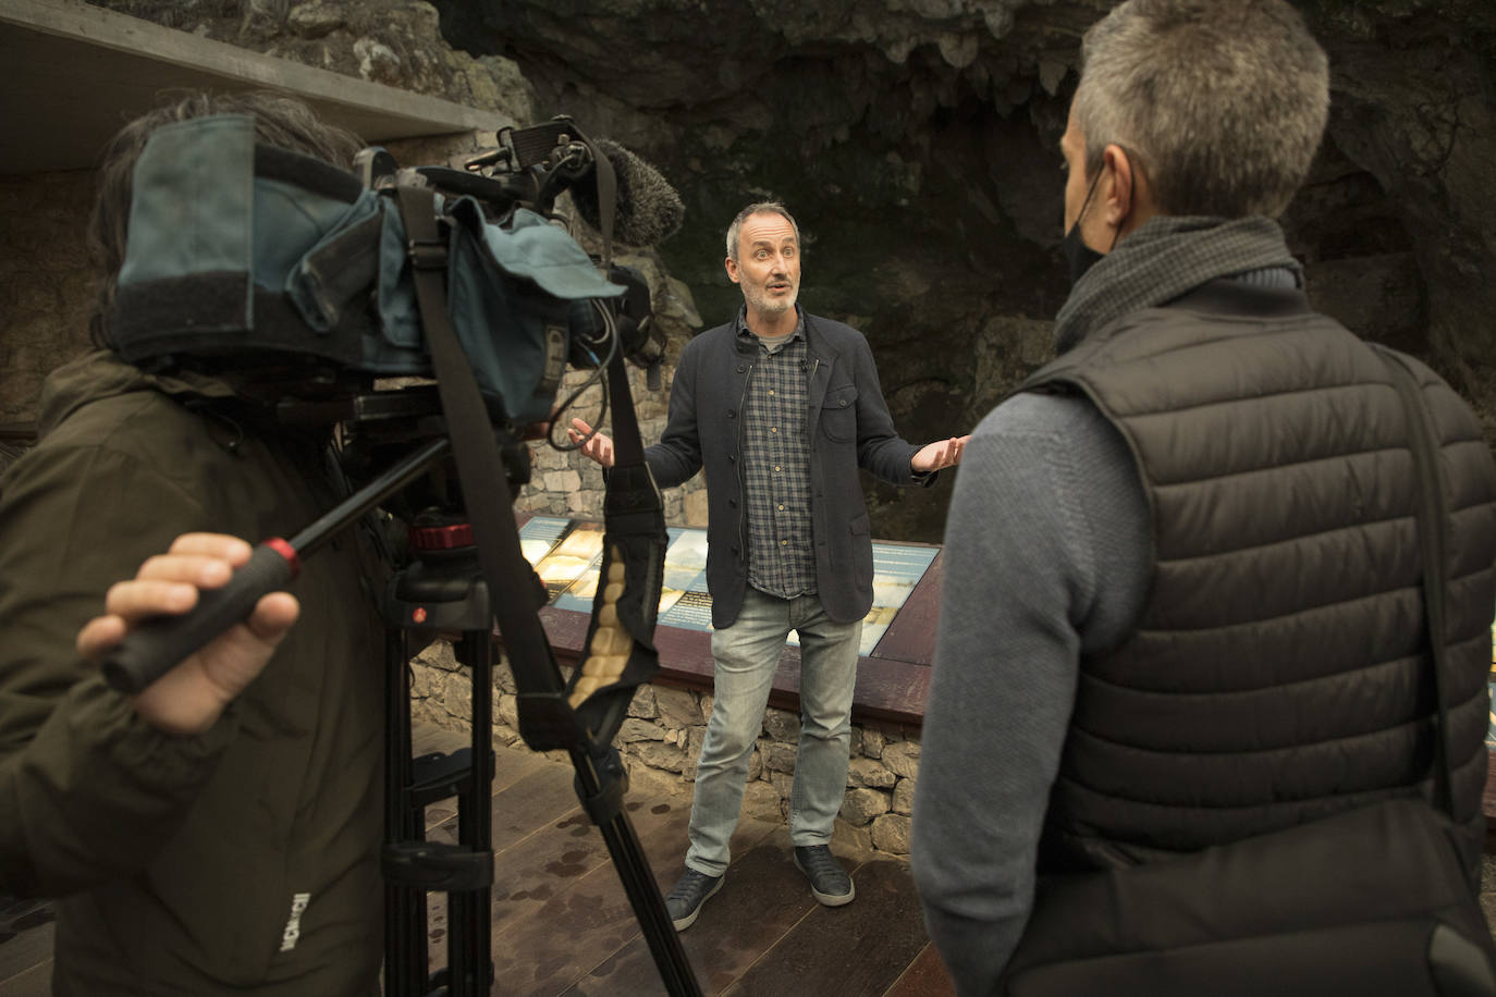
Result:
M947 520L913 865L962 994L1001 991L1037 876L1429 789L1406 420L1272 221L1327 112L1325 55L1281 0L1131 0L1086 34L1059 357L972 433ZM1445 698L1478 854L1496 468L1421 381L1457 510Z

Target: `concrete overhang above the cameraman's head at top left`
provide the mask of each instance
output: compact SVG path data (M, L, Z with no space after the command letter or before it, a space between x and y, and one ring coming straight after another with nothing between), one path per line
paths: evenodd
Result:
M120 126L183 88L293 94L371 143L513 124L81 0L0 3L0 173L91 169Z

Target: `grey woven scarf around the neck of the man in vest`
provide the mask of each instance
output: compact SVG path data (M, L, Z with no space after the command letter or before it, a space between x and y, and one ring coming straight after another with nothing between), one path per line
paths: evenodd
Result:
M1303 268L1272 218L1155 215L1076 281L1055 317L1055 353L1113 318L1171 302L1206 281L1267 268L1293 271L1303 287Z

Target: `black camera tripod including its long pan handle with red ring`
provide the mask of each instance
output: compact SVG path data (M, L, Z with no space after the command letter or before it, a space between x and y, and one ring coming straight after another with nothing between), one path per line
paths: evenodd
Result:
M132 632L103 662L105 677L117 689L139 692L171 665L244 619L262 595L284 587L299 559L311 556L447 454L444 438L428 441L289 541L260 544L250 564L239 568L227 586L203 592L191 613L151 620ZM509 516L507 504L504 514ZM384 987L392 997L483 994L492 978L489 786L494 777L494 611L471 529L458 520L455 516L435 522L416 517L417 532L426 531L423 537L413 538L417 559L393 578L387 593L383 871L389 880ZM509 529L513 531L513 519ZM518 556L518 547L515 564L524 565L524 583L533 583L534 571ZM516 605L536 602L524 595L528 589L522 589L521 578L515 577L519 571L516 567L497 577L501 586L509 586L506 595L510 601L500 602L515 623L504 632L504 640L519 688L521 734L536 750L564 747L570 755L577 798L603 834L666 991L672 997L694 997L700 994L696 976L624 812L627 776L618 750L606 741L598 743L582 726L565 700L564 683L549 650L543 644L539 652L522 650L527 644L516 640L527 635L525 628L518 625L521 622L528 620L539 629L533 610L515 611ZM473 743L452 755L411 758L410 638L413 634L429 638L438 631L461 634L456 655L473 670ZM536 643L534 632L528 638L530 644ZM619 697L613 709L625 706L627 697ZM616 723L604 722L595 729L616 729ZM449 797L458 798L458 842L426 842L425 807ZM447 969L434 979L428 979L426 972L426 891L449 894Z

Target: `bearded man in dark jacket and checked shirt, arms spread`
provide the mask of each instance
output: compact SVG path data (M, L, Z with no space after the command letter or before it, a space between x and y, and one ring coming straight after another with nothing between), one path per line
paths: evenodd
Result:
M670 419L645 450L661 486L706 471L712 596L712 716L702 744L685 873L666 898L676 930L723 885L748 759L790 631L800 640L800 741L790 795L794 862L826 906L850 903L830 852L847 788L862 620L872 607L872 538L859 468L929 484L965 438L919 447L893 429L868 341L802 311L800 230L778 203L744 208L727 230L735 321L685 347ZM573 420L573 439L591 426ZM583 453L612 463L612 441Z

